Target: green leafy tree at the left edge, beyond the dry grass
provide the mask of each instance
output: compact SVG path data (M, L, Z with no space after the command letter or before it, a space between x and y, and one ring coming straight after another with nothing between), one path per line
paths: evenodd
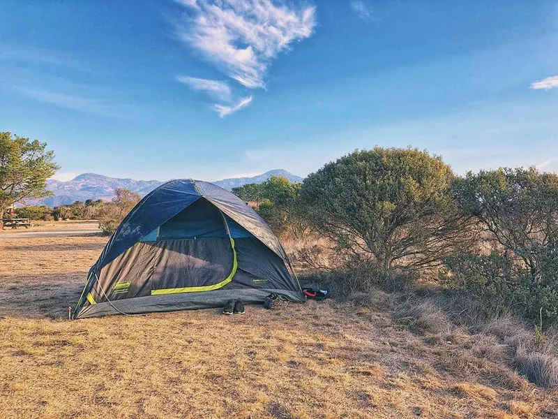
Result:
M50 195L46 182L58 169L45 142L0 132L0 219L14 203Z

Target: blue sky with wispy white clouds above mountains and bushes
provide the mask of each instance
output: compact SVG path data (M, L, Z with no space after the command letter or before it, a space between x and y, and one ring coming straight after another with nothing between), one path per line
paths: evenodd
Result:
M375 145L558 172L558 1L3 0L0 96L58 179L307 175Z

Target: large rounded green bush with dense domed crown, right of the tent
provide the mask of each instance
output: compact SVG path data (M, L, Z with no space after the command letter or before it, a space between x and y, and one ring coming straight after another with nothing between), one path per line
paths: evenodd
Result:
M467 225L449 193L455 176L438 156L417 149L357 150L303 182L312 226L339 251L379 269L416 270L468 245Z

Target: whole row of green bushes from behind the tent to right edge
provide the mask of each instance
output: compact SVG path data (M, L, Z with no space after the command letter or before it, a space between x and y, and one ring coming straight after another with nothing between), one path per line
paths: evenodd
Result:
M278 235L326 238L335 256L326 268L360 271L352 286L408 286L422 275L487 312L558 322L558 175L500 168L460 177L428 152L376 147L303 184L272 177L233 192Z

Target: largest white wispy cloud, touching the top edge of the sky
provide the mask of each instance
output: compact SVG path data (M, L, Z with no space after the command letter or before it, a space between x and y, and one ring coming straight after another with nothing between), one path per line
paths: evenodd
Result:
M264 87L266 69L293 41L315 28L315 7L271 0L178 0L189 16L176 25L182 41L244 86Z

